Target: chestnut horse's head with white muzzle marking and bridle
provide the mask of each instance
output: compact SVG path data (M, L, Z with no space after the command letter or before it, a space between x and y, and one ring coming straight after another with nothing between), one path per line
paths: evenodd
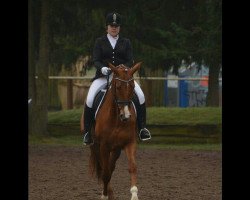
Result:
M109 67L114 73L111 89L122 121L127 121L131 116L129 106L132 102L135 87L133 74L141 67L141 63L136 63L132 68L124 65L115 67L109 63Z

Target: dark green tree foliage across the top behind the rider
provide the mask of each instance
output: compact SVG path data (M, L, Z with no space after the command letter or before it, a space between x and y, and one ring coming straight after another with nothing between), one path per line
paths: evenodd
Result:
M39 24L40 1L31 1ZM132 40L135 60L145 66L178 68L183 59L221 64L221 10L221 0L52 0L51 63L70 66L91 55L95 39L105 33L106 14L117 11L123 15L121 34ZM39 26L35 31L38 41Z

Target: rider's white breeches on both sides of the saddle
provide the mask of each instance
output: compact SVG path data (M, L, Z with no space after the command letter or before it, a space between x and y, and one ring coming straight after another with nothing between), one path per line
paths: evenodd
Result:
M112 77L113 77L113 74L110 75L109 82L112 80ZM139 99L140 104L143 104L145 102L144 93L142 89L140 88L139 84L136 81L134 82L135 82L135 93ZM93 83L91 84L89 88L87 99L86 99L86 104L89 108L92 108L95 96L100 90L105 88L106 84L107 84L106 77L101 77L93 81Z

